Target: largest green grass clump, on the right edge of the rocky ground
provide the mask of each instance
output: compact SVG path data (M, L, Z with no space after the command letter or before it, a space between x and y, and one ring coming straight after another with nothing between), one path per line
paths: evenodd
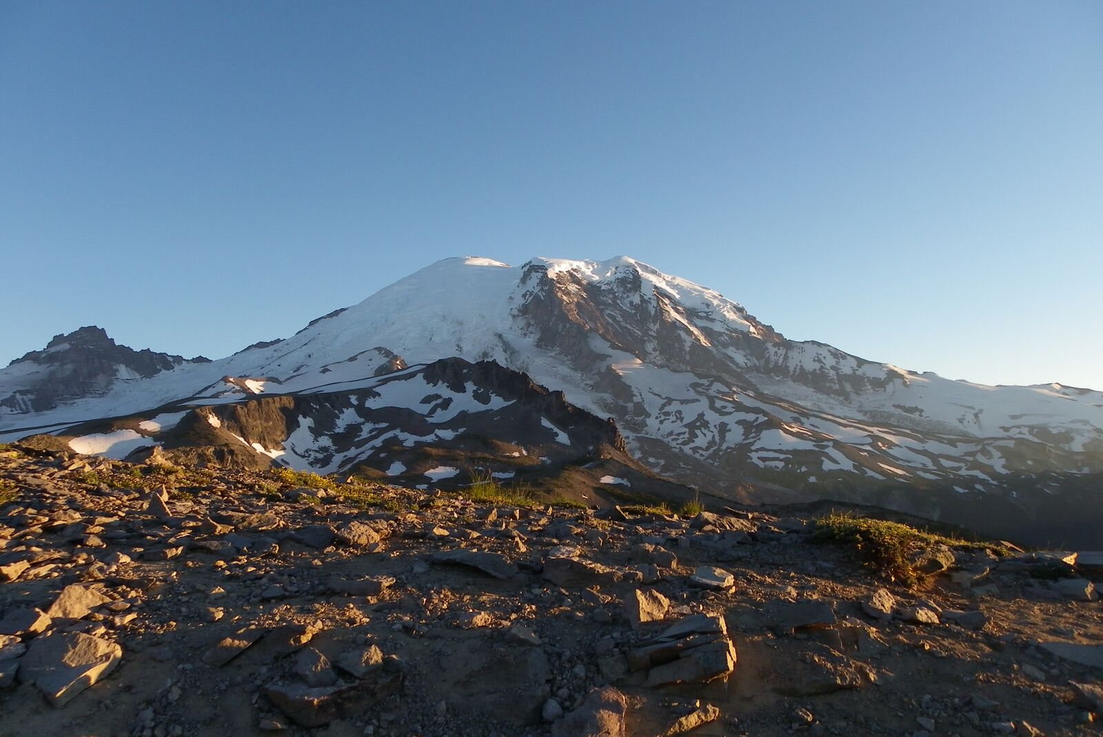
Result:
M899 522L836 512L816 520L812 540L853 546L867 559L867 565L889 580L906 586L915 586L927 578L917 568L915 562L923 553L943 546L957 549L986 548L997 555L1010 553L999 545L946 537Z

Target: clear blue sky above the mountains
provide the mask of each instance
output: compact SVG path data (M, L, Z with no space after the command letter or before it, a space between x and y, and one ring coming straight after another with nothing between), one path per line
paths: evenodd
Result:
M791 338L1103 388L1101 39L1095 1L7 2L0 362L623 254Z

